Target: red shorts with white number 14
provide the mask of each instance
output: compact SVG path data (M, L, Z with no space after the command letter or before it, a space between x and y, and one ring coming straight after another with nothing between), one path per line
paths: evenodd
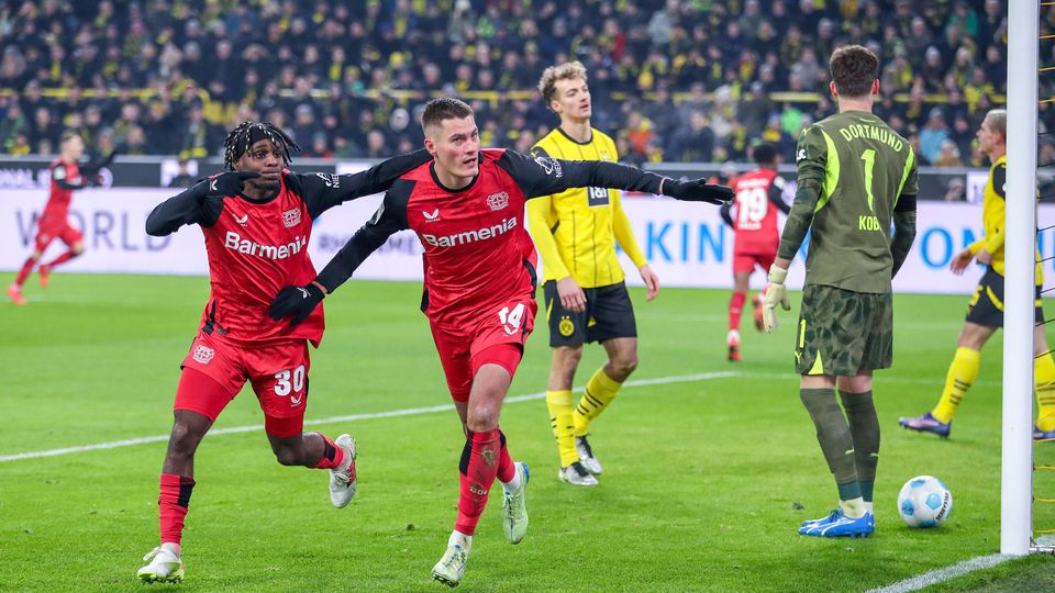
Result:
M484 365L499 365L509 371L510 377L515 374L524 354L524 343L535 327L537 311L535 300L525 298L495 307L493 313L469 324L468 331L432 324L432 337L454 401L469 400L473 378Z

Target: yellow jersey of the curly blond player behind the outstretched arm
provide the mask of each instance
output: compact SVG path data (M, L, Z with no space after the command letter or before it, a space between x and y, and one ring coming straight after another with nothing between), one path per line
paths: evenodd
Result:
M580 143L557 127L531 149L532 156L568 160L619 161L615 143L590 128L589 142ZM637 246L619 190L577 188L528 201L531 236L542 254L545 280L575 278L582 288L607 287L625 275L615 257L615 242L637 267L647 264Z

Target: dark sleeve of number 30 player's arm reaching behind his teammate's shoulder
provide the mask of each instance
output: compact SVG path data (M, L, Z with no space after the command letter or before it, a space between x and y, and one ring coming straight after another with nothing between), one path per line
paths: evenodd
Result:
M386 191L401 175L430 160L432 155L421 149L390 158L354 175L289 174L286 179L299 190L308 204L308 214L316 219L326 210L348 200Z

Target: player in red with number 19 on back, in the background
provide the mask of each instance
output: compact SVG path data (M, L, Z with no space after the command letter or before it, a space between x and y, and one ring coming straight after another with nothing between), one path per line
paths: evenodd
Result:
M771 144L759 144L753 153L758 168L730 180L736 195L722 205L722 219L736 233L733 247L733 298L729 302L729 360L740 362L740 314L747 301L751 273L758 266L767 273L777 257L780 230L777 228L777 210L787 214L791 208L785 203L785 180L777 175L777 149ZM733 210L735 209L735 213ZM752 300L755 309L755 327L762 332L762 296Z

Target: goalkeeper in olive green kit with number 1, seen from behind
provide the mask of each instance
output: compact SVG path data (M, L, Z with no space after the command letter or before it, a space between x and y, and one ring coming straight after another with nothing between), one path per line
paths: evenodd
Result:
M893 358L890 281L915 238L917 167L909 142L871 114L879 92L876 56L859 45L841 47L831 72L839 113L799 138L799 188L769 269L763 322L773 332L777 304L791 309L784 281L810 231L795 368L802 376L799 396L835 475L839 506L804 522L799 533L865 537L875 532L879 460L871 373L890 368Z

